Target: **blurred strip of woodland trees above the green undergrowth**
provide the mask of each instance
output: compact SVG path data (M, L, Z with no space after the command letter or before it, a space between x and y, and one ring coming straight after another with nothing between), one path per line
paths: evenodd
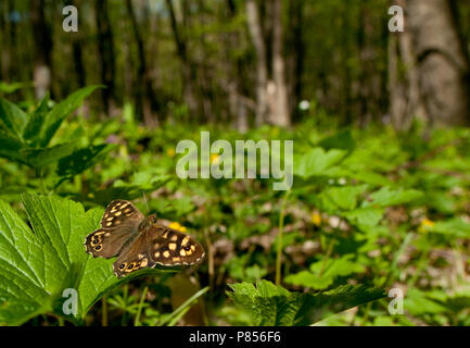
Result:
M62 28L66 4L78 33ZM404 33L389 30L393 4ZM89 110L104 120L130 101L147 126L288 126L308 108L346 125L461 125L469 36L463 0L4 0L0 80L56 100L103 84Z

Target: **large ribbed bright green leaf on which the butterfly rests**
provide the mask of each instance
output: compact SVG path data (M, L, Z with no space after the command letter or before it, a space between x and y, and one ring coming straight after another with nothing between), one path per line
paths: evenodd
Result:
M84 239L98 228L103 209L85 211L59 197L22 195L31 228L0 200L0 323L18 325L40 313L54 313L76 324L113 287L155 270L117 279L113 259L92 259ZM161 272L161 271L157 271ZM64 313L76 290L76 313ZM65 296L65 297L64 297Z

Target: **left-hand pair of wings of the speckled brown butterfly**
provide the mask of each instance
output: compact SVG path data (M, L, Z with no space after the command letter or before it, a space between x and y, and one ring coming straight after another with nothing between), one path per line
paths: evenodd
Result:
M101 228L85 238L85 248L94 258L112 258L131 241L145 216L129 201L112 201L101 219Z

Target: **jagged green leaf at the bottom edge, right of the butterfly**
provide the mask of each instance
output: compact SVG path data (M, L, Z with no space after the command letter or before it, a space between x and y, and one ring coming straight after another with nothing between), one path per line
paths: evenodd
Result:
M366 285L343 285L315 294L291 293L268 281L229 285L228 296L250 314L255 326L305 326L329 315L386 296Z

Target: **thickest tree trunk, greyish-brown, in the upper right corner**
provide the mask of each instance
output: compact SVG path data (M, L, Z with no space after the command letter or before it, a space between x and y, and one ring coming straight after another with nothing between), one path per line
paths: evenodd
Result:
M409 0L419 82L430 121L470 123L468 53L459 38L450 0Z

